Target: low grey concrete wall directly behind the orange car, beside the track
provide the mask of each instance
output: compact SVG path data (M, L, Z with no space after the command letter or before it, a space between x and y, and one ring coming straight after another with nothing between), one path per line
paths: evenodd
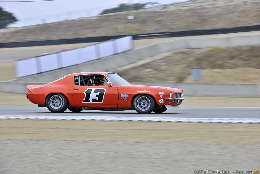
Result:
M260 84L233 83L175 83L175 82L130 82L135 85L165 86L179 88L185 96L197 97L260 97ZM26 85L43 85L35 82L0 82L2 92L25 94Z

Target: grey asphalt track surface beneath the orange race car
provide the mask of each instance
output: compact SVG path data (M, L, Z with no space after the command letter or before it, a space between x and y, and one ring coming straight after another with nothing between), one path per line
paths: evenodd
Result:
M113 116L113 117L178 117L178 118L254 118L260 119L260 107L181 107L179 110L167 110L164 113L138 114L128 111L83 110L73 113L52 113L47 107L37 106L0 106L1 115L21 116Z

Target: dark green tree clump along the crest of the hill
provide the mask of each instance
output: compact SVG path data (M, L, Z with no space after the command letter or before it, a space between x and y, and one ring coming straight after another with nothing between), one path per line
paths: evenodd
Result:
M121 11L139 10L139 9L142 9L143 5L145 5L145 4L147 4L147 3L144 3L144 4L135 3L135 4L131 4L131 5L120 4L118 7L105 9L100 14L103 15L103 14L116 13L116 12L121 12Z

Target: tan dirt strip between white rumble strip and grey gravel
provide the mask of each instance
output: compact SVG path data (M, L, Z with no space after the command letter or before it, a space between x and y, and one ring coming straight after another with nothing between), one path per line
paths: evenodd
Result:
M258 124L2 119L0 126L0 139L260 142Z

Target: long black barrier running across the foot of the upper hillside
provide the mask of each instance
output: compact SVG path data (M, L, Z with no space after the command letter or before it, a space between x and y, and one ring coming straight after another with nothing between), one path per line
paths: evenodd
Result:
M258 24L258 25L249 25L249 26L214 28L214 29L198 29L198 30L187 30L187 31L176 31L176 32L157 32L157 33L112 35L112 36L96 36L96 37L72 38L72 39L6 42L6 43L0 43L0 48L103 42L106 40L115 39L115 38L124 37L124 36L133 36L133 40L136 40L136 39L161 38L161 37L184 37L184 36L210 35L210 34L227 34L227 33L250 32L250 31L260 31L260 25Z

